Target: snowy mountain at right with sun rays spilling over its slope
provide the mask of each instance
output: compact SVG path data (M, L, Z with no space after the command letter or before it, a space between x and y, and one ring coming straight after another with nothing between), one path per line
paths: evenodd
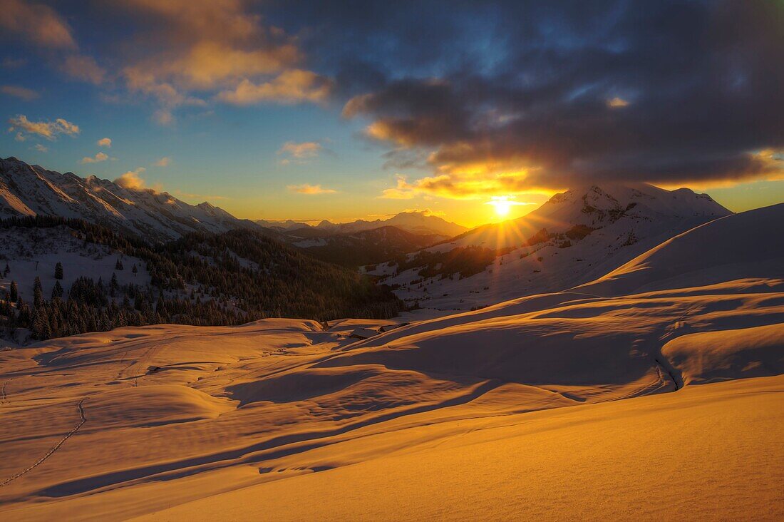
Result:
M709 195L649 184L591 185L554 195L531 214L487 224L374 273L398 297L466 309L563 290L731 212ZM472 247L472 248L467 248ZM470 267L465 269L455 267Z

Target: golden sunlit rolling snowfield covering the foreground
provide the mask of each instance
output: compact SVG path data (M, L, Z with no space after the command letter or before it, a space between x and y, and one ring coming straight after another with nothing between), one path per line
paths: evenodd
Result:
M0 517L781 520L784 242L717 239L773 237L782 213L365 341L389 322L0 352Z

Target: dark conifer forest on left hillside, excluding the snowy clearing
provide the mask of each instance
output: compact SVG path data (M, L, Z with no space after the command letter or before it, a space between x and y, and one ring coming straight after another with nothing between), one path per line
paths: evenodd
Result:
M32 338L47 339L155 323L227 326L267 317L379 319L404 308L389 288L377 286L370 277L318 261L262 232L194 233L152 245L63 217L0 220L0 233L13 227L64 228L85 246L93 243L116 252L116 271L136 274L136 265L124 266L122 257L141 259L150 280L119 284L116 274L109 281L79 277L64 288L60 279L67 268L58 263L50 295L44 295L36 278L31 301L25 301L15 283L0 296L0 323L9 334L29 328ZM13 266L6 265L5 271L13 280Z

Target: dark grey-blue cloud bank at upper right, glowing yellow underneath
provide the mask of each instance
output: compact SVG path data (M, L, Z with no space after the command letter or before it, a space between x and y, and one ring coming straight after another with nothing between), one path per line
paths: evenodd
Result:
M758 154L784 148L780 2L428 2L419 16L397 7L327 16L303 45L323 64L352 53L365 64L356 76L376 87L344 115L368 118L368 135L393 145L390 164L430 153L434 175L412 189L673 184L781 168ZM334 45L314 47L338 27Z

